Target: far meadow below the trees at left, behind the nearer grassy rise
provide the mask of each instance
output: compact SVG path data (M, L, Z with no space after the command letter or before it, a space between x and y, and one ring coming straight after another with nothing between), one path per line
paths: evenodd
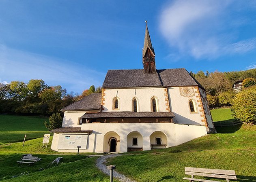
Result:
M44 122L49 119L37 116L15 116L0 115L0 144L9 142L20 142L43 137L44 133L49 133Z

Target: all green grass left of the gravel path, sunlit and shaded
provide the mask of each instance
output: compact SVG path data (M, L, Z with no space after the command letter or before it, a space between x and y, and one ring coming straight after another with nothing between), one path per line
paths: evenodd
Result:
M47 120L36 116L0 115L0 181L108 182L109 177L95 167L97 157L88 158L86 153L77 156L76 153L53 151L50 149L52 136L48 147L42 146L44 133L49 133L44 125ZM25 134L27 138L22 146ZM31 166L19 165L16 161L27 153L41 158L41 161ZM51 165L57 157L63 157L61 163ZM40 171L41 168L43 170Z

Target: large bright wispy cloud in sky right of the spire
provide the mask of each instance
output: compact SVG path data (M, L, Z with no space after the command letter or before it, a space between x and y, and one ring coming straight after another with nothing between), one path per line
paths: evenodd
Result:
M163 8L159 27L170 46L196 59L256 49L256 38L238 40L230 31L248 21L232 20L230 9L242 11L239 2L232 0L174 0Z

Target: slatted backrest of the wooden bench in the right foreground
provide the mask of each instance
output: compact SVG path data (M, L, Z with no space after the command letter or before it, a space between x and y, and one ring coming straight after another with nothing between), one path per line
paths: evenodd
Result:
M185 174L212 177L212 178L232 179L232 180L237 179L237 176L234 170L224 170L224 169L205 169L205 168L196 168L196 167L185 167Z

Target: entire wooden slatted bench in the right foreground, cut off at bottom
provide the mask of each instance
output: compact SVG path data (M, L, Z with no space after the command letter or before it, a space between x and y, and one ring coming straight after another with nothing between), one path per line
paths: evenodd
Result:
M237 176L234 170L224 170L224 169L205 169L196 167L185 167L185 174L191 175L191 178L183 178L183 180L189 180L190 182L200 181L200 182L219 182L214 180L202 180L194 178L194 176L204 176L211 178L222 178L229 182L229 179L236 180Z

